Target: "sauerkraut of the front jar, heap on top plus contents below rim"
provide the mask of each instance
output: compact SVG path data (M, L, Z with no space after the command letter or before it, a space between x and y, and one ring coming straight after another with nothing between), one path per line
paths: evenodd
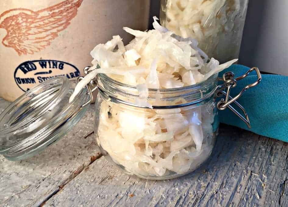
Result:
M140 108L98 96L97 143L115 163L142 177L185 174L196 169L210 156L214 139L213 100L197 106L153 109L157 100L148 100L148 89L194 85L237 61L219 65L211 58L208 62L196 40L176 36L156 20L155 30L142 32L124 27L135 36L126 46L119 36L97 45L91 51L94 60L89 74L70 97L73 100L98 73L137 88L135 103Z

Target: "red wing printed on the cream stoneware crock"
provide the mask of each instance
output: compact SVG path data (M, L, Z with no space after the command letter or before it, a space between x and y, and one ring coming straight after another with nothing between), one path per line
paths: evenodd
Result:
M54 6L32 11L11 9L0 15L0 28L7 31L2 40L18 55L34 54L49 46L58 33L65 30L83 0L66 0Z

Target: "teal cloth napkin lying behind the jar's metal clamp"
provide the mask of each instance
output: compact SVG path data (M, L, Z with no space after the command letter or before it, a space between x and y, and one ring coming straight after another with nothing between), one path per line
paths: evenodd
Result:
M235 77L249 70L243 65L232 65L219 74L232 71ZM239 80L231 90L234 97L246 85L257 80L253 71L246 78ZM261 82L244 92L238 102L246 109L251 122L251 129L228 108L219 111L220 122L254 132L259 135L288 142L288 77L283 75L262 74ZM243 114L243 113L241 113Z

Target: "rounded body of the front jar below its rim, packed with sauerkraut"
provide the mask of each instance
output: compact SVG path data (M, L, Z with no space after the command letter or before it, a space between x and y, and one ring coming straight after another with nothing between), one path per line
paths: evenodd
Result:
M97 144L127 174L176 178L197 169L212 153L219 126L214 96L171 109L115 103L101 92L96 102Z

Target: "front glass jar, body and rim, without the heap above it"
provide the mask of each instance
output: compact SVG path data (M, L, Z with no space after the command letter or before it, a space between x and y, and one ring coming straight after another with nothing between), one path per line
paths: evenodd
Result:
M212 153L219 126L217 75L175 89L149 89L154 107L137 107L136 87L98 74L95 132L101 153L145 179L188 174Z

